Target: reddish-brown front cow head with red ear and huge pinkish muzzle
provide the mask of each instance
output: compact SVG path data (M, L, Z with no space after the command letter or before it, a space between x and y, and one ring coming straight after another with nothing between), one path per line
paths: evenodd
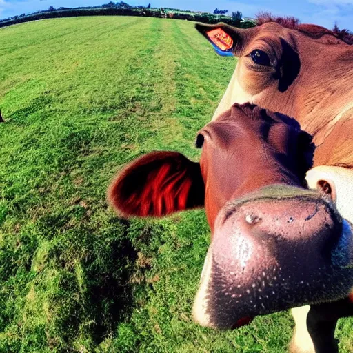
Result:
M177 152L133 161L108 198L123 216L205 206L212 241L197 322L239 327L259 314L347 296L352 232L327 195L305 188L314 145L294 119L235 104L200 130L196 146L200 163ZM330 337L327 344L336 345Z

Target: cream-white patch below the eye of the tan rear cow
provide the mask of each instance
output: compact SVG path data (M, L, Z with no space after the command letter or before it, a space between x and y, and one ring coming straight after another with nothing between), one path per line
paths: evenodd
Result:
M225 90L225 94L223 98L219 102L219 105L216 111L213 114L212 121L215 121L219 115L226 112L234 103L252 103L252 95L246 92L239 83L239 72L241 70L241 64L238 63L234 70L232 79L230 79L230 83L228 84L227 90Z

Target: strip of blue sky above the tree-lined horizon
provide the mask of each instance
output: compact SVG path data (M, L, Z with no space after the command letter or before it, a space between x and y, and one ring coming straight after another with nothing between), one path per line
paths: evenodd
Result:
M94 6L108 2L109 0L0 0L0 19L44 10L49 6L54 8ZM125 2L130 5L147 5L150 2L152 7L163 6L205 12L213 12L217 7L227 9L228 12L239 10L245 17L254 17L260 10L266 10L276 15L298 17L302 23L316 23L327 28L332 28L337 21L339 28L353 30L353 0L125 0Z

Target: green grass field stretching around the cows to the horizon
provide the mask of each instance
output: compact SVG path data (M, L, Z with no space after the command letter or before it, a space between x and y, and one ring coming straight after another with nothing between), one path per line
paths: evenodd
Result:
M234 70L188 21L83 17L0 30L0 352L287 352L287 312L195 325L203 210L118 219L114 174L151 150L199 157ZM339 321L343 353L353 320Z

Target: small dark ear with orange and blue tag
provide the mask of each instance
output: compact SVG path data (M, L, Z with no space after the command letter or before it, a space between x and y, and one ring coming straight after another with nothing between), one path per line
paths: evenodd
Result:
M196 23L196 30L210 41L217 54L222 56L234 55L242 46L242 30L228 26L225 23L205 25Z

